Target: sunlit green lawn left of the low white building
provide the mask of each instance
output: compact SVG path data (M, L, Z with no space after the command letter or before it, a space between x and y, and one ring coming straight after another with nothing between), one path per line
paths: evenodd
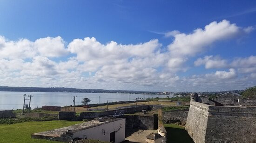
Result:
M33 139L31 134L49 131L81 122L64 120L0 124L0 143L60 143L44 139Z

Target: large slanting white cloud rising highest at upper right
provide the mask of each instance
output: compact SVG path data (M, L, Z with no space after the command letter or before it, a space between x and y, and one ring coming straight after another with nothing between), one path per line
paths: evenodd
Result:
M168 48L173 56L195 56L204 48L216 41L234 37L243 31L236 24L230 24L227 20L216 21L206 25L204 29L198 28L191 34L180 33L174 35L175 39Z

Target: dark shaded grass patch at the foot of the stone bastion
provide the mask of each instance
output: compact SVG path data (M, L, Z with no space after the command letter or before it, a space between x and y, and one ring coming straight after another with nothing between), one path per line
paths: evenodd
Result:
M164 124L167 131L167 143L194 143L188 132L177 124Z

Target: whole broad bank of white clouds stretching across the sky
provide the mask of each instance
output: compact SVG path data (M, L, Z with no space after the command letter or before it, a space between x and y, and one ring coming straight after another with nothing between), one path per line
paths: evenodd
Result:
M184 63L209 45L252 30L222 20L188 34L170 31L165 37L173 37L173 42L166 51L157 39L139 44L102 44L94 37L85 37L66 44L61 37L12 41L0 36L0 84L151 91L189 86L202 89L200 85L221 88L224 83L245 87L255 83L255 56L231 62L220 56L204 56L194 65L226 70L187 77L179 72L186 72L189 67Z

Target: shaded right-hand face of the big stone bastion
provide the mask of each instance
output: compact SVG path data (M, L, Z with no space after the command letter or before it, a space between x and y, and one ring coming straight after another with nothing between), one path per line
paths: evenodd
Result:
M209 106L206 142L256 143L256 106Z

